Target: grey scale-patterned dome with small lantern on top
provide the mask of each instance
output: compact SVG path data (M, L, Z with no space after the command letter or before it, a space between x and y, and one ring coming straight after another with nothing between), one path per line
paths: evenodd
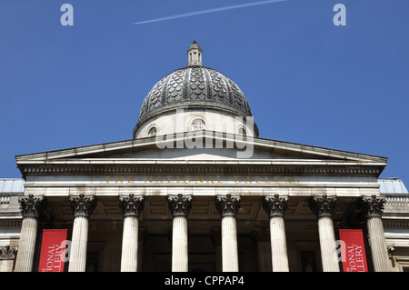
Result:
M250 105L240 88L222 73L202 65L202 49L196 42L187 50L188 65L165 75L146 95L137 129L155 115L175 109L212 109L251 116Z

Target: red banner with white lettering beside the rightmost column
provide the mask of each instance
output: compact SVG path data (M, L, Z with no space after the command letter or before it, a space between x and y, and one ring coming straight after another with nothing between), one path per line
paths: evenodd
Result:
M362 230L339 230L344 272L368 272Z

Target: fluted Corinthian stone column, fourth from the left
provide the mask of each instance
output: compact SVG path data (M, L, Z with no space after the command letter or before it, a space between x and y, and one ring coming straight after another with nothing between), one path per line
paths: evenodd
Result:
M167 202L173 217L172 271L187 272L187 215L192 208L192 195L168 195Z

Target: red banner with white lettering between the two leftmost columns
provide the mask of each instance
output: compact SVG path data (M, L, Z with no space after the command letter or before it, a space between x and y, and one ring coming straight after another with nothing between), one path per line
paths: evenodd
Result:
M66 229L44 230L38 272L64 272Z

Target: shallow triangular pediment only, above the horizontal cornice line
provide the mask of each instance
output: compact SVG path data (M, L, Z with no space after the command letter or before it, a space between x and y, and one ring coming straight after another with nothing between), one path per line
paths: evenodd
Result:
M87 145L55 151L15 156L17 163L24 161L53 161L58 159L315 159L354 162L381 162L387 158L300 145L262 138L234 138L235 135L175 135L173 142L161 137L126 140L100 145ZM201 139L200 139L201 138ZM200 139L200 141L198 141ZM246 152L247 151L247 152ZM242 152L243 155L239 155ZM246 153L244 155L244 153Z

